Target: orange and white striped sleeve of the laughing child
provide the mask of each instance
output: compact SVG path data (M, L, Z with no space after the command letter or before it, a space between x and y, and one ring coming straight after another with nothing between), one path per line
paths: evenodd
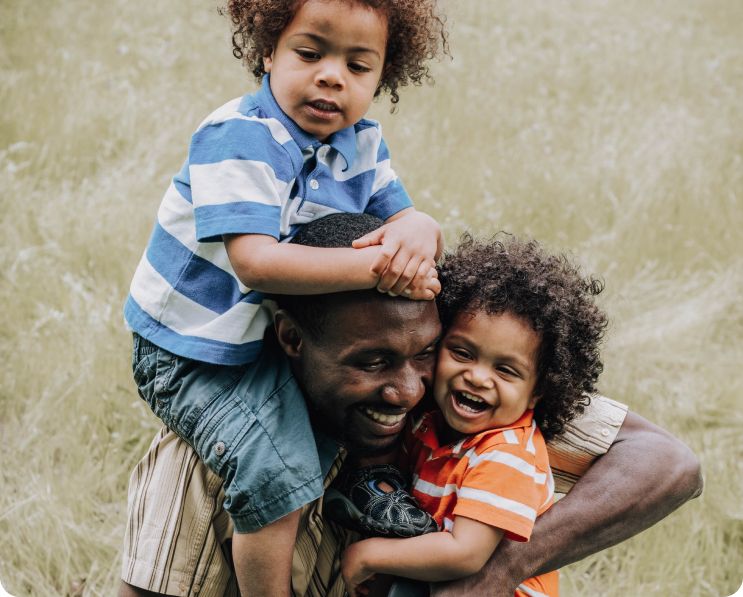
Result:
M520 445L498 444L470 459L453 513L527 541L537 513L551 499L549 473L535 467L535 456Z

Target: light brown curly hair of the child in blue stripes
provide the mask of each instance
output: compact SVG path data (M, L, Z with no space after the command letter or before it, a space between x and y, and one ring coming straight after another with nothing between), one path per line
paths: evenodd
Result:
M271 54L281 32L307 0L229 0L233 25L232 53L245 62L256 78L265 73L263 58ZM387 53L375 96L388 91L393 104L399 87L431 80L426 61L442 51L448 54L444 19L436 0L348 0L387 16Z

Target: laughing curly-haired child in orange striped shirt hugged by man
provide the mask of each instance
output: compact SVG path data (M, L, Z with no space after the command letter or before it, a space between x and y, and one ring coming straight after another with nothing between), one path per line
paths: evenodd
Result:
M595 392L606 318L601 284L536 242L467 239L439 271L438 409L409 429L413 496L442 532L372 538L343 557L351 595L376 573L424 581L479 571L504 537L527 541L553 502L545 438ZM517 595L555 596L557 572ZM536 592L536 593L535 593Z

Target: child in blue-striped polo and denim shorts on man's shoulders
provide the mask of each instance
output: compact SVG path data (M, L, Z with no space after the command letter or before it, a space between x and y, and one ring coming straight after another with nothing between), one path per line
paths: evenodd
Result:
M297 511L323 491L306 413L291 430L264 429L260 445L276 458L244 441L262 427L240 393L271 319L264 294L376 287L432 300L440 290L439 226L412 207L379 124L364 118L382 91L396 103L399 86L428 77L426 61L446 42L434 9L434 0L231 0L233 53L261 88L193 134L131 284L138 389L224 479L243 593L289 592ZM337 212L385 225L353 249L281 242ZM253 540L277 522L281 538ZM268 562L260 574L246 572L251 549Z

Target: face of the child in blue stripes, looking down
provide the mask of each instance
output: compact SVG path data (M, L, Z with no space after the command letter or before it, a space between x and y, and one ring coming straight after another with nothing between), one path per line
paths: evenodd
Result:
M307 0L263 59L281 109L324 141L358 122L384 67L387 19L355 2Z

